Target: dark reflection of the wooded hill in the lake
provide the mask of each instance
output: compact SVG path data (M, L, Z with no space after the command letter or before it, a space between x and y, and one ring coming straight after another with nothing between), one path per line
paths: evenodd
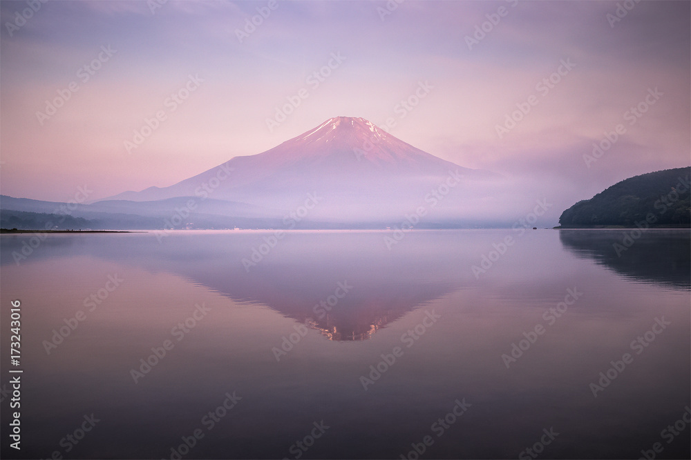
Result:
M632 234L633 231L633 234ZM618 274L661 286L691 286L689 230L559 230L565 248Z

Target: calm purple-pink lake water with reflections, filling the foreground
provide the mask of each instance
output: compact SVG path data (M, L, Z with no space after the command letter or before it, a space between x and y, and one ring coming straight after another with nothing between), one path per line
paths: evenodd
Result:
M3 235L2 457L691 457L688 231L272 235Z

